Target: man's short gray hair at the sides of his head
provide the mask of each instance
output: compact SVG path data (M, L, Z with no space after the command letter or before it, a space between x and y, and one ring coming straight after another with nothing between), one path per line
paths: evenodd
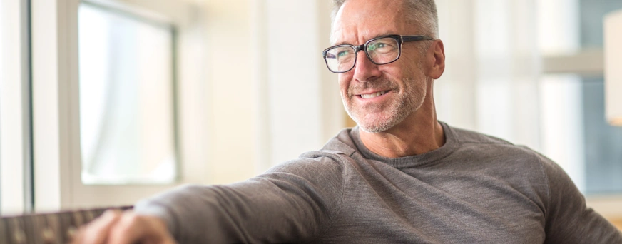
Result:
M331 23L335 22L337 12L346 1L348 0L332 1ZM404 13L407 15L408 21L412 24L418 24L422 29L422 33L419 34L430 36L434 39L439 38L439 16L437 14L437 4L434 0L404 0Z

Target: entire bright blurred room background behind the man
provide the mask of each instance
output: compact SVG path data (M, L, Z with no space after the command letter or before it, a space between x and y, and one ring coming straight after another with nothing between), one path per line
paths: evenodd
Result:
M437 0L438 118L553 159L622 219L603 17L619 0ZM330 1L0 0L1 213L243 181L345 127Z

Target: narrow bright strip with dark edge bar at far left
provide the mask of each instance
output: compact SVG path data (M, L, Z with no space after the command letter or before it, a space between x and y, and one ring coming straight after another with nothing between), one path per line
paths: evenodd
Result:
M0 213L32 208L29 1L0 1Z

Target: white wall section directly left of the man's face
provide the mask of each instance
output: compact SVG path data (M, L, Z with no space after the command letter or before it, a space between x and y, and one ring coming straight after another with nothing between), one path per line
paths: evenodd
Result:
M270 145L265 166L315 150L342 127L337 76L322 61L329 46L330 4L325 1L265 1L265 68Z

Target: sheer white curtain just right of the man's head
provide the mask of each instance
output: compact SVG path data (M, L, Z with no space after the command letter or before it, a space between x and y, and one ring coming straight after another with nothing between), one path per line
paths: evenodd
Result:
M439 119L540 149L533 0L437 0L446 72Z

